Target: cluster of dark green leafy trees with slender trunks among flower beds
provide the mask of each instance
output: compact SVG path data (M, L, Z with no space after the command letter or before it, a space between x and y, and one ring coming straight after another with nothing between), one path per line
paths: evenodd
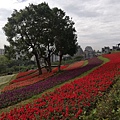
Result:
M14 10L3 30L10 43L10 46L6 46L6 53L13 51L23 56L34 55L39 74L42 74L41 58L46 60L50 69L52 54L60 55L61 64L63 55L73 55L77 49L72 19L63 10L51 9L45 2Z

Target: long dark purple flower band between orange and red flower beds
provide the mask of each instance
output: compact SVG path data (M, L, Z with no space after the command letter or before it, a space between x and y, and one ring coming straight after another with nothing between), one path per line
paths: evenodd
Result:
M22 100L28 99L33 95L40 94L47 89L50 89L58 84L75 78L76 76L79 76L82 73L91 70L92 68L101 64L102 61L98 58L89 59L88 64L86 66L83 66L82 68L65 71L62 74L47 78L44 81L40 81L23 88L6 91L0 94L0 108L5 108L7 106L16 104Z

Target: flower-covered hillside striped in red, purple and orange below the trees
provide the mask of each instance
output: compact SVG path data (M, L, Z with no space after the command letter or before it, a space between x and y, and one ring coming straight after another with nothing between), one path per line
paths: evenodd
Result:
M105 104L104 96L114 94L120 83L120 53L89 59L85 66L84 61L65 65L62 70L42 76L29 71L10 80L1 88L1 119L99 119L103 114L96 111ZM118 105L113 112L119 114Z

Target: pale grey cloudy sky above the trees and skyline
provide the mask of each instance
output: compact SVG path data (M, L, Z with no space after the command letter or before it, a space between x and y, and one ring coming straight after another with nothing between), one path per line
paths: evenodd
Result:
M0 0L0 48L8 45L2 27L14 9L24 9L29 3L47 2L58 7L75 22L79 45L101 50L120 43L120 0Z

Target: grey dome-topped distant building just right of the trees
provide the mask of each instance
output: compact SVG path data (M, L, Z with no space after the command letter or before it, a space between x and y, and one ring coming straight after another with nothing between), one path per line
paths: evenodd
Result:
M95 56L95 51L92 49L91 46L87 46L84 51L85 59L89 59Z

